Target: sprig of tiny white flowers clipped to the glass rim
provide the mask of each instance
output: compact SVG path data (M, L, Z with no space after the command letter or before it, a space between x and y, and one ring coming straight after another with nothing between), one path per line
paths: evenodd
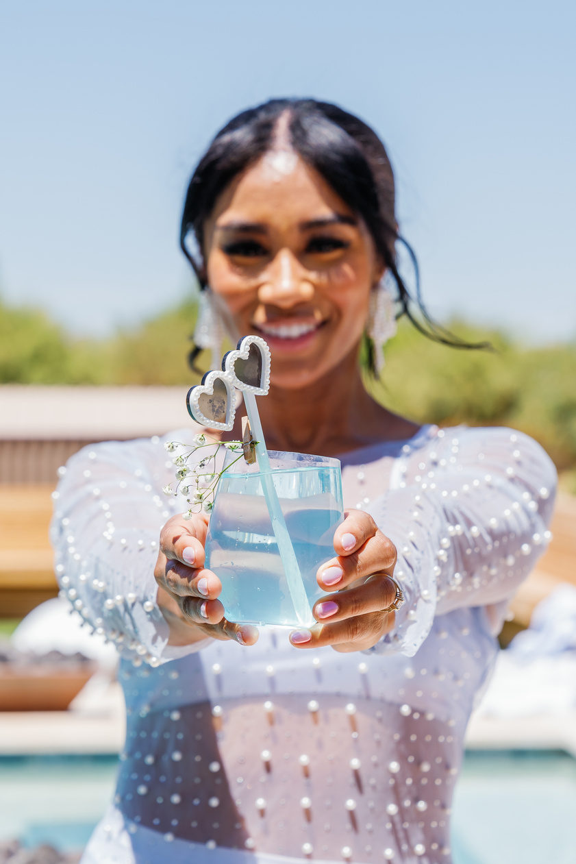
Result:
M178 495L179 492L186 496L187 504L190 505L190 508L182 514L185 519L192 518L194 513L199 513L202 510L206 513L212 510L216 487L218 486L220 477L224 473L224 470L216 470L216 457L222 447L226 450L240 451L237 459L232 461L227 467L231 467L231 465L234 465L244 456L241 441L216 441L213 438L208 439L203 433L194 436L192 445L175 441L164 443L164 449L168 453L174 453L183 448L183 452L179 453L172 460L176 466L176 486L174 488L172 484L164 486L162 492L168 496ZM202 459L194 467L189 467L188 461L197 450L202 448L212 448L212 453L202 456Z

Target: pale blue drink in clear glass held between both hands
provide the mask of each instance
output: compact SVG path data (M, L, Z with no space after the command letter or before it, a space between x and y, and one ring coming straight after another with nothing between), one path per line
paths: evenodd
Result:
M220 600L231 621L298 626L257 465L228 452L206 537L206 567L222 582ZM272 479L310 606L321 596L320 564L335 555L342 522L338 459L269 451ZM314 619L305 622L314 623Z

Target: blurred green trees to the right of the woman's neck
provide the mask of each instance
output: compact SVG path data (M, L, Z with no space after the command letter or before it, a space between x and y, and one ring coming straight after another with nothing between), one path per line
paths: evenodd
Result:
M529 348L459 321L449 328L470 341L488 339L493 350L439 345L402 321L382 376L365 376L374 397L418 422L521 429L557 467L576 466L576 345Z

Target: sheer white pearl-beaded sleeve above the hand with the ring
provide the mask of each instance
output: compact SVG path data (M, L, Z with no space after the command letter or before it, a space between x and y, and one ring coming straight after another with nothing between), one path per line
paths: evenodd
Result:
M396 543L407 602L372 651L412 656L434 616L514 594L548 543L556 471L527 435L465 428L440 430L395 469L368 509Z

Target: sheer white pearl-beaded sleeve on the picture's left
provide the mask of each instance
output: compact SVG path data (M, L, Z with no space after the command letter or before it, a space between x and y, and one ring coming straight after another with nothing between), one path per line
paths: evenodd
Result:
M176 433L177 435L177 433ZM182 432L190 438L190 432ZM154 578L163 524L181 509L162 486L174 480L163 439L84 448L60 469L51 540L62 592L124 657L157 665L198 650L168 646Z

